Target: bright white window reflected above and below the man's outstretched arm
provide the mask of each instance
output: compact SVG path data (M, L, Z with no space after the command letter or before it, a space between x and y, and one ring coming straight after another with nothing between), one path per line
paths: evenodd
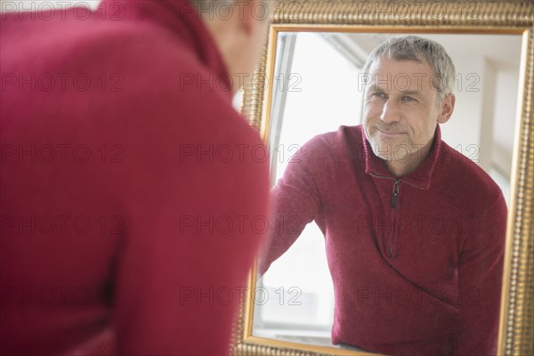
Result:
M284 50L277 54L271 105L273 183L289 158L314 135L361 122L363 92L358 76L363 61L348 56L346 46L327 41L313 33L280 35L278 48ZM269 298L256 297L255 335L288 339L298 335L300 342L308 337L315 344L330 344L334 291L324 237L315 223L272 263L258 287L264 289L257 293Z

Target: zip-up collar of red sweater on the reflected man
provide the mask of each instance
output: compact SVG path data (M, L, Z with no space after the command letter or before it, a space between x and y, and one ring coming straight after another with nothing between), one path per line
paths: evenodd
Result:
M385 166L384 160L382 158L378 158L371 149L371 145L368 142L367 136L365 135L363 125L360 126L360 129L362 140L365 142L363 145L365 154L365 173L396 179L396 177ZM433 138L433 147L428 156L425 158L421 166L418 166L414 172L402 176L400 178L401 182L408 182L409 184L417 186L418 188L428 190L430 188L430 182L432 180L434 168L441 157L441 146L441 129L440 125L438 124L436 125L436 131Z

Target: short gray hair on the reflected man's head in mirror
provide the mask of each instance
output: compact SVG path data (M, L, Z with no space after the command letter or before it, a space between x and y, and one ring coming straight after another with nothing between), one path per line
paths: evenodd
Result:
M363 72L368 73L371 65L380 58L390 58L394 61L425 61L433 69L433 88L438 92L441 103L449 93L452 93L456 69L445 51L445 48L428 38L406 35L394 36L377 46L369 55L363 66Z

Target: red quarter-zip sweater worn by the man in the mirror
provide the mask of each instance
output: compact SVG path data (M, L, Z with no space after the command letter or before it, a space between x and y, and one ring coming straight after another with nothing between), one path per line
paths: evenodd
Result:
M361 126L307 142L271 190L266 271L313 220L335 289L333 344L395 355L495 355L506 231L498 185L441 141L395 179ZM395 198L396 195L396 198Z

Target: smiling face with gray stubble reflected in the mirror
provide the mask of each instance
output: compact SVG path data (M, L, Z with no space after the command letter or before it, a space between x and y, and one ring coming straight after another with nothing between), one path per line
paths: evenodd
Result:
M384 58L371 65L369 74L363 124L373 152L387 161L417 154L432 142L445 104L438 107L433 69L426 62Z

